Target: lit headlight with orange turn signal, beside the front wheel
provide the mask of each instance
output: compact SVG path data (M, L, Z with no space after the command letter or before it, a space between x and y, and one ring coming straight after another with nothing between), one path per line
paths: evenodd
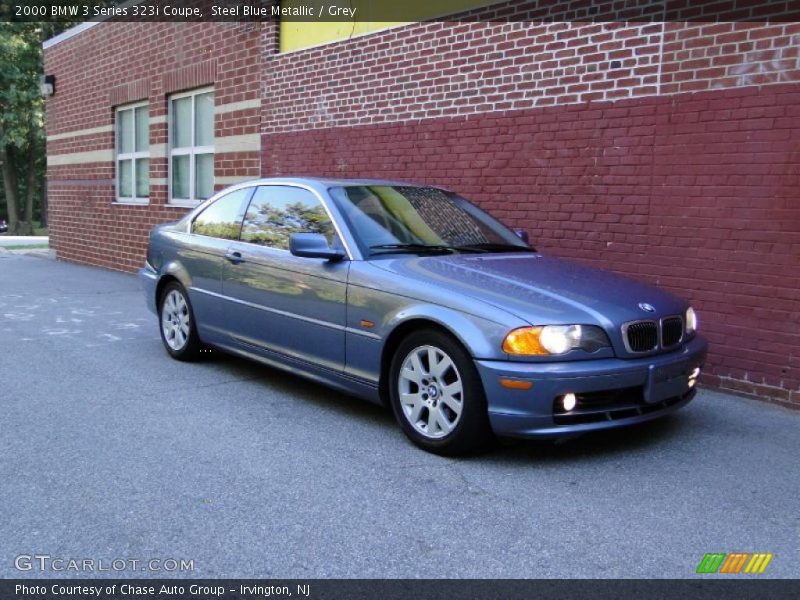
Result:
M550 356L576 348L594 352L609 345L605 331L594 325L544 325L510 332L503 340L503 351L518 356Z

